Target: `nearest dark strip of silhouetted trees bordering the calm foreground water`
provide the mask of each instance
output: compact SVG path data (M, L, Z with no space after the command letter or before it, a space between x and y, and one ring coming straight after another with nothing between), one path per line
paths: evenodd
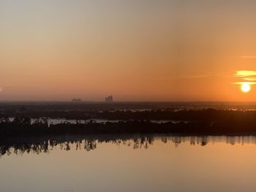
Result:
M196 114L196 112L195 112ZM231 115L230 115L231 114ZM226 116L225 116L226 115ZM201 119L187 123L153 123L149 120L127 120L97 123L94 120L80 123L49 124L48 118L31 118L20 115L10 121L0 118L0 139L6 137L41 137L91 134L181 134L181 135L256 135L256 113L227 112L214 121L202 115Z

